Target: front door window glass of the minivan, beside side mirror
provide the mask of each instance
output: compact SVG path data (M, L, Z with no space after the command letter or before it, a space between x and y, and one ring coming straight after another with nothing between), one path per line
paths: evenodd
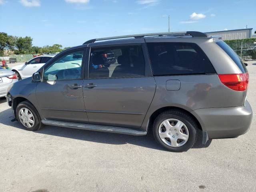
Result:
M81 78L83 50L69 52L44 70L44 81Z

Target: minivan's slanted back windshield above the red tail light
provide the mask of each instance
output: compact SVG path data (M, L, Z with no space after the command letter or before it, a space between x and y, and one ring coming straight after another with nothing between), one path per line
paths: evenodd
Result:
M220 48L222 48L226 52L226 54L228 54L228 56L230 56L230 58L236 63L242 73L247 72L246 66L244 65L240 57L236 54L236 52L232 50L230 46L228 46L228 44L226 44L224 41L218 41L216 42L216 44L220 46Z

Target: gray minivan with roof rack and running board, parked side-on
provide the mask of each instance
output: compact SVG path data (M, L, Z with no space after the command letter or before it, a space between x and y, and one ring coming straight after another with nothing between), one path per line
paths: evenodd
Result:
M116 62L104 66L99 52L113 53ZM27 130L46 124L136 136L152 131L164 148L182 152L244 134L252 121L247 87L244 63L220 37L170 32L64 50L10 87L7 100Z

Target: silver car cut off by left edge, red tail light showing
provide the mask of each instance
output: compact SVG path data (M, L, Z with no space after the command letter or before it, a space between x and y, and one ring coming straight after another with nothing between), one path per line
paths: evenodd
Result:
M0 67L0 98L5 99L7 88L16 81L14 72Z

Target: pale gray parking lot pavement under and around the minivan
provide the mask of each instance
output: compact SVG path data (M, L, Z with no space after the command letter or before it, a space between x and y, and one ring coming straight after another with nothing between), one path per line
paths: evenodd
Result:
M248 64L250 130L183 153L163 150L152 135L54 126L26 131L0 100L0 191L255 191L256 61Z

